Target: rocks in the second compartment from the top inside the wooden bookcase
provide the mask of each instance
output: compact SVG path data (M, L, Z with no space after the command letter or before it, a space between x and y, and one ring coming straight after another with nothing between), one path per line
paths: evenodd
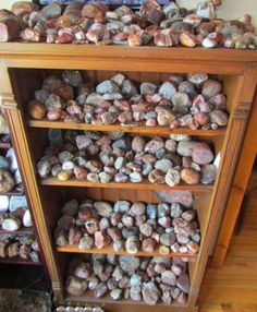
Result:
M94 183L140 183L146 177L150 183L170 187L181 181L212 183L217 167L211 165L215 155L209 144L184 134L170 137L66 131L62 146L45 149L37 172L41 178L66 181L75 177Z

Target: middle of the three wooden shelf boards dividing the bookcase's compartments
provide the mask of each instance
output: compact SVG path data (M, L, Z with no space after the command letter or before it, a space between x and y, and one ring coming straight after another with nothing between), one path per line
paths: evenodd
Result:
M84 187L84 188L102 188L102 189L126 189L126 190L181 190L181 191L191 191L191 192L211 192L213 185L204 185L204 184L196 184L189 185L186 183L181 183L176 187L169 187L168 184L152 184L149 181L143 181L142 183L117 183L117 182L109 182L109 183L94 183L88 182L87 180L77 180L72 178L68 181L59 181L56 178L46 178L41 179L40 183L42 185L53 185L53 187Z

